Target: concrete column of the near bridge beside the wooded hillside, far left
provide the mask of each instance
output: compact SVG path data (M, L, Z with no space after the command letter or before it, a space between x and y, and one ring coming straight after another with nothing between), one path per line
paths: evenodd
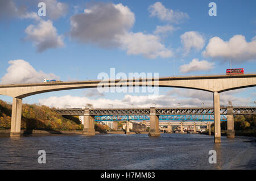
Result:
M22 99L13 98L13 107L11 109L10 137L20 137L21 117L22 117Z

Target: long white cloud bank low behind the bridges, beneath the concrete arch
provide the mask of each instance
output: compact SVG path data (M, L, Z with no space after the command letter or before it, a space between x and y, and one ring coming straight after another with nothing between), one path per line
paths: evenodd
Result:
M236 96L237 92L223 92L220 95L221 105L227 105L231 100L233 105L245 105L251 102L251 98L241 98ZM191 89L174 89L168 91L166 95L125 95L122 99L89 99L80 96L51 96L46 99L39 99L39 103L49 107L65 108L65 105L71 107L83 108L86 103L93 104L96 108L110 108L109 104L113 104L114 108L131 108L134 107L213 107L213 93ZM154 104L155 103L155 104Z

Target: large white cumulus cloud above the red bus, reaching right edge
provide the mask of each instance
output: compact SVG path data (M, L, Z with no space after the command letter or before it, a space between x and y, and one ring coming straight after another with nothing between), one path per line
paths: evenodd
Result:
M256 36L250 42L245 40L243 35L235 35L229 41L220 37L210 39L203 56L214 59L243 62L256 59Z

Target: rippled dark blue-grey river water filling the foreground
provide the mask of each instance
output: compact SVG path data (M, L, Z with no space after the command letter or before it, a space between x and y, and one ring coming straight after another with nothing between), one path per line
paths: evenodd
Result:
M255 137L96 134L0 137L0 169L256 169ZM46 164L38 151L46 151ZM209 163L216 150L217 163Z

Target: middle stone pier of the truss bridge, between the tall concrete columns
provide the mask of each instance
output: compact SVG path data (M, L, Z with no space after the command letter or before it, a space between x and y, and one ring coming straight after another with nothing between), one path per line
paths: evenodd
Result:
M150 132L148 136L160 136L159 116L156 115L155 107L150 108Z

